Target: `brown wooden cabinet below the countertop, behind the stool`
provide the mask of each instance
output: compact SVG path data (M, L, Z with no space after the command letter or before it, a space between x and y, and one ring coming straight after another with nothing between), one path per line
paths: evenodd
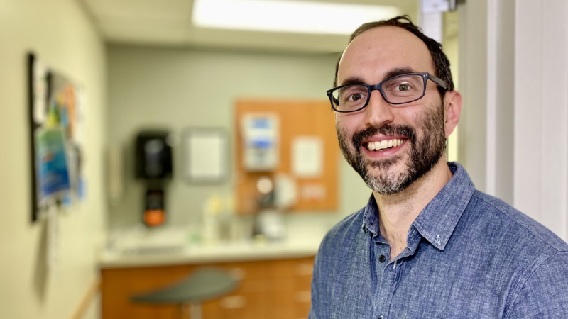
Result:
M132 303L130 297L182 279L198 267L226 269L233 293L202 303L203 319L301 319L310 310L313 257L258 262L102 269L102 319L182 318L175 305Z

